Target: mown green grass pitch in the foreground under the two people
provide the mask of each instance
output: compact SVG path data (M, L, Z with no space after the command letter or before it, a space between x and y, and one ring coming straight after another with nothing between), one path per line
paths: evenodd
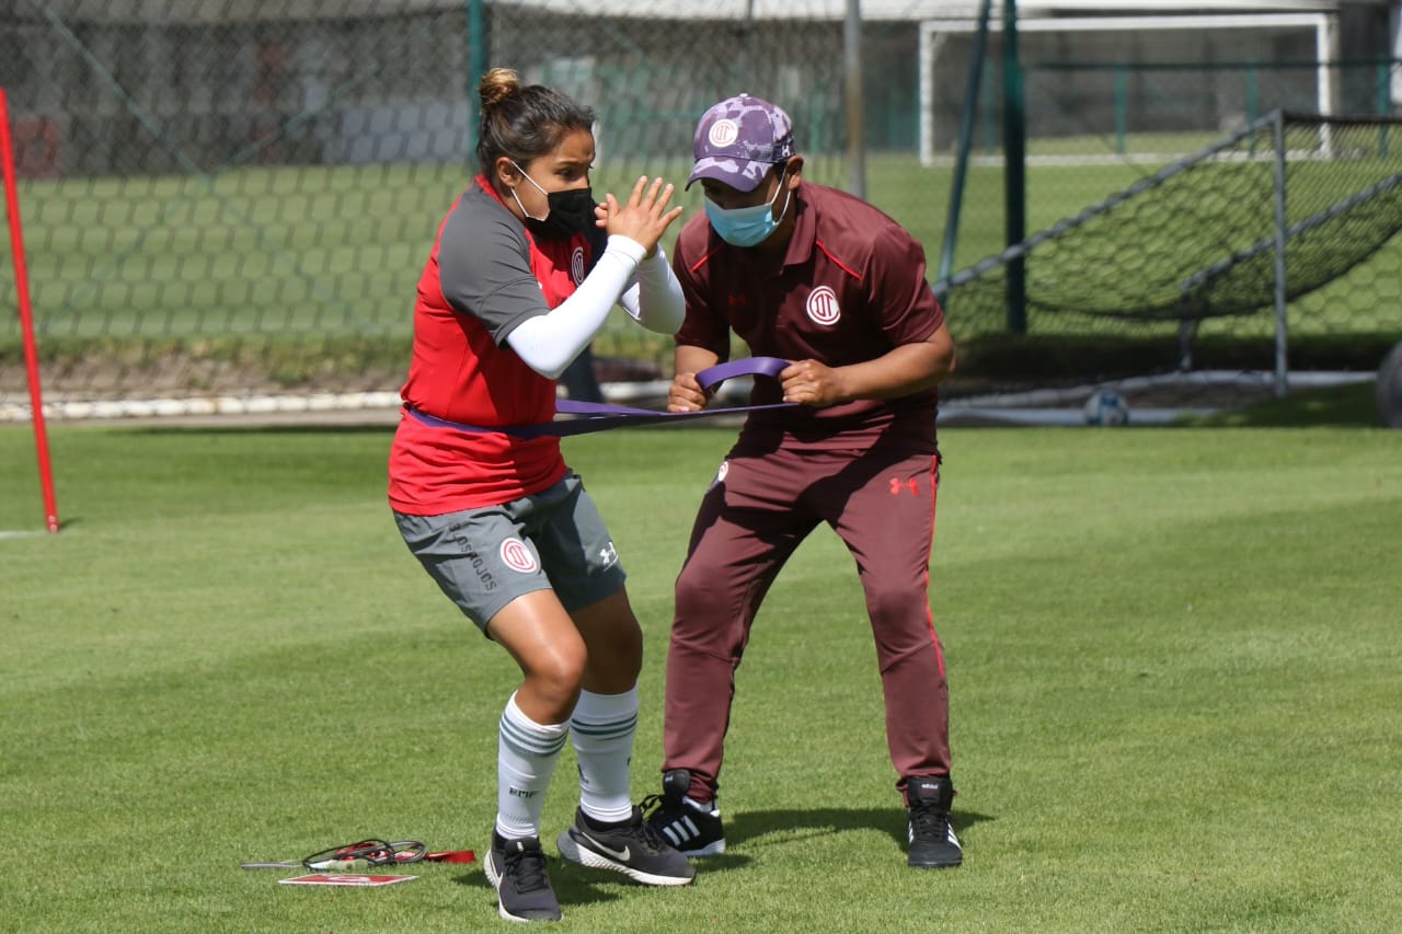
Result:
M965 867L904 867L861 593L820 530L739 673L729 851L677 891L552 861L565 924L1394 928L1402 433L1343 422L941 432ZM732 435L566 442L648 634L638 797L658 790L672 579ZM388 431L50 439L63 532L0 539L0 928L498 928L479 864L380 891L238 868L366 836L486 846L516 673L400 543ZM42 527L34 474L28 428L0 428L0 529Z

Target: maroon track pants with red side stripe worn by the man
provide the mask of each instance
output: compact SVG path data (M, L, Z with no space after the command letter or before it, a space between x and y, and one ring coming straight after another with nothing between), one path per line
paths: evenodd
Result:
M667 652L663 771L691 771L691 797L715 797L735 669L760 602L784 562L826 522L857 560L900 777L949 774L949 693L930 613L935 456L746 452L707 492L677 576Z

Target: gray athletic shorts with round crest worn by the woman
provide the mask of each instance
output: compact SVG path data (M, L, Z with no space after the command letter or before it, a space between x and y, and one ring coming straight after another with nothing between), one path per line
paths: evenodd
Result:
M533 590L552 589L565 610L622 589L608 529L569 473L543 492L442 516L394 513L409 551L477 627Z

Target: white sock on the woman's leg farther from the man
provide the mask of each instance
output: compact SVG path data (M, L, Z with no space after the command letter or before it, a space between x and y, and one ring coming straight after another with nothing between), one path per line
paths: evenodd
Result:
M537 724L516 705L502 711L496 739L496 832L508 840L540 836L540 812L569 724Z

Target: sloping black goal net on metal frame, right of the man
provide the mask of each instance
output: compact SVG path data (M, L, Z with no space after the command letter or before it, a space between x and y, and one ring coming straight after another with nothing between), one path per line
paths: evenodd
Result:
M952 314L997 331L1022 264L1029 334L1140 332L1187 341L1218 318L1283 334L1286 304L1347 285L1402 230L1402 119L1274 112L938 283ZM1395 262L1353 285L1402 325ZM1319 332L1356 306L1291 323ZM1332 318L1332 321L1330 321ZM1284 352L1284 348L1280 348ZM1165 360L1166 362L1166 360ZM1277 370L1281 360L1276 360Z

